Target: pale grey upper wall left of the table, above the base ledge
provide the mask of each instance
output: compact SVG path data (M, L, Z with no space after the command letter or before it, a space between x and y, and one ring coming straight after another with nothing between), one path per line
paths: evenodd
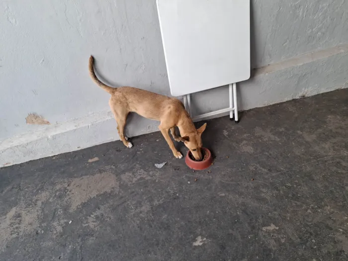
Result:
M108 109L90 54L113 85L169 94L153 1L2 1L0 14L0 139L42 128L28 113L57 123Z

